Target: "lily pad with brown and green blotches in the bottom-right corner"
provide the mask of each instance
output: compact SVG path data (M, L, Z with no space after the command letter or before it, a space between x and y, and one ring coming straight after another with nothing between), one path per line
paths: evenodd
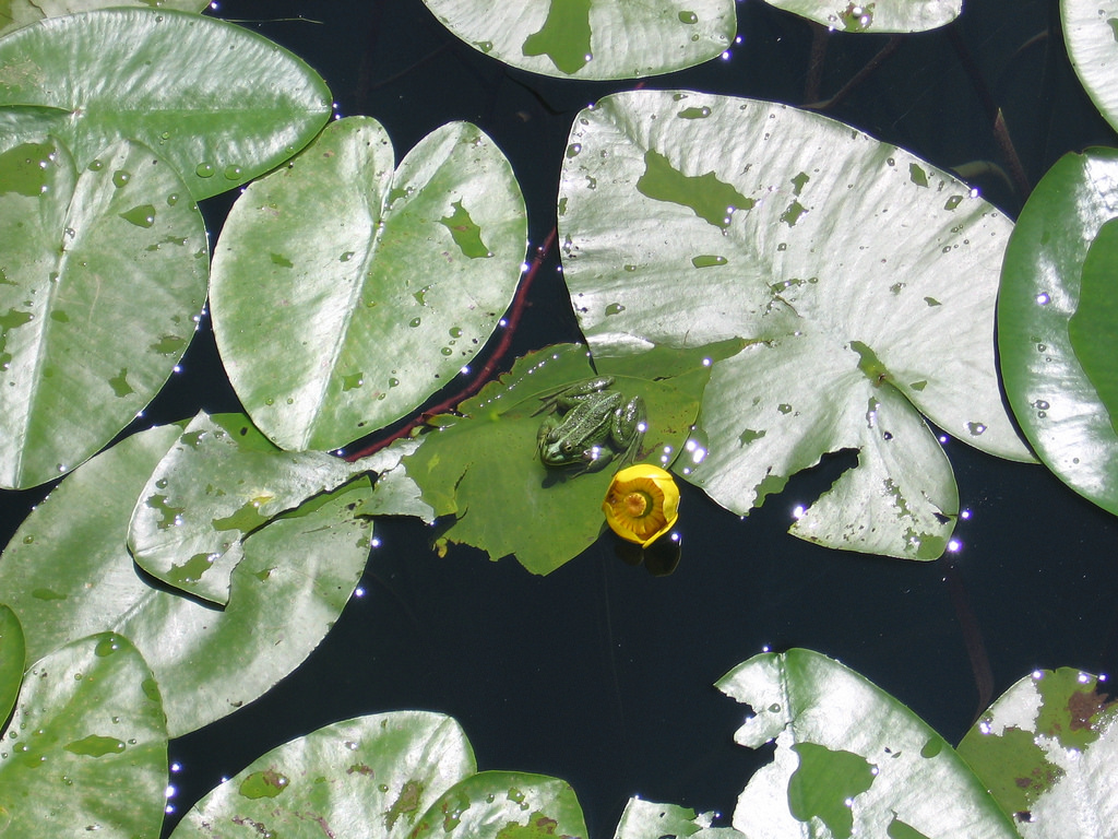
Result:
M1024 839L1118 833L1118 705L1097 677L1036 670L989 706L959 754Z

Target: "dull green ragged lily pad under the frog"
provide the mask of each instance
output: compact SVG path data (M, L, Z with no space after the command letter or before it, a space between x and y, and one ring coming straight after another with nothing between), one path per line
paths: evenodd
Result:
M694 422L705 370L653 380L641 368L633 359L601 359L597 371L614 376L614 389L626 399L638 395L645 402L648 428L634 462L666 468ZM514 554L533 574L549 574L598 538L601 501L619 463L553 468L537 450L544 398L594 375L585 347L552 347L519 359L458 405L462 416L438 418L440 427L404 463L437 515L457 516L445 538L479 547L491 559Z

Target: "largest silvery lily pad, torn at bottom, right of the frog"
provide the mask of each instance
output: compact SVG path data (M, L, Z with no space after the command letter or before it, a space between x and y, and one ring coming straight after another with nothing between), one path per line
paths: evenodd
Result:
M994 365L1012 225L896 147L784 105L617 94L576 117L559 227L596 356L745 343L713 366L709 454L688 475L723 507L747 513L826 452L856 449L860 468L793 532L934 559L958 500L920 414L1030 459Z

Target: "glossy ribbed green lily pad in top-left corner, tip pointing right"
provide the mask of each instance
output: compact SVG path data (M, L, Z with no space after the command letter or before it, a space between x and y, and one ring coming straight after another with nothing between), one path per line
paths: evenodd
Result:
M63 139L79 169L139 140L207 198L273 169L325 124L331 95L271 40L172 9L98 9L0 38L0 114ZM250 83L249 83L250 82ZM9 123L11 124L11 123Z

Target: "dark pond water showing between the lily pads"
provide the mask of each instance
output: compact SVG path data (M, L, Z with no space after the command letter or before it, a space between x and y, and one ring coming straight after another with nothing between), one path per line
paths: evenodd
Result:
M530 257L555 227L571 121L616 91L825 103L821 113L956 171L1011 217L1027 196L1022 179L1035 185L1067 151L1116 143L1070 66L1055 0L970 0L946 29L901 37L826 35L746 0L739 41L722 58L641 82L511 69L457 40L420 0L215 6L211 13L318 70L339 115L376 117L398 158L452 120L483 129L524 192ZM995 132L995 121L1007 134ZM203 202L211 242L234 198ZM238 409L208 320L201 326L143 427L199 408ZM530 350L578 340L552 247L501 369ZM267 750L364 714L452 715L480 769L568 781L590 836L600 838L632 795L732 812L771 750L733 744L743 708L713 682L766 649L803 647L842 661L950 743L1034 669L1114 672L1118 520L1043 466L944 440L964 516L955 549L929 563L830 550L786 532L794 509L855 463L851 452L825 458L746 518L681 483L681 557L665 576L618 558L610 534L536 576L473 548L440 555L432 529L416 520L378 520L359 596L305 663L260 699L172 741L164 836ZM6 541L45 491L6 493Z

